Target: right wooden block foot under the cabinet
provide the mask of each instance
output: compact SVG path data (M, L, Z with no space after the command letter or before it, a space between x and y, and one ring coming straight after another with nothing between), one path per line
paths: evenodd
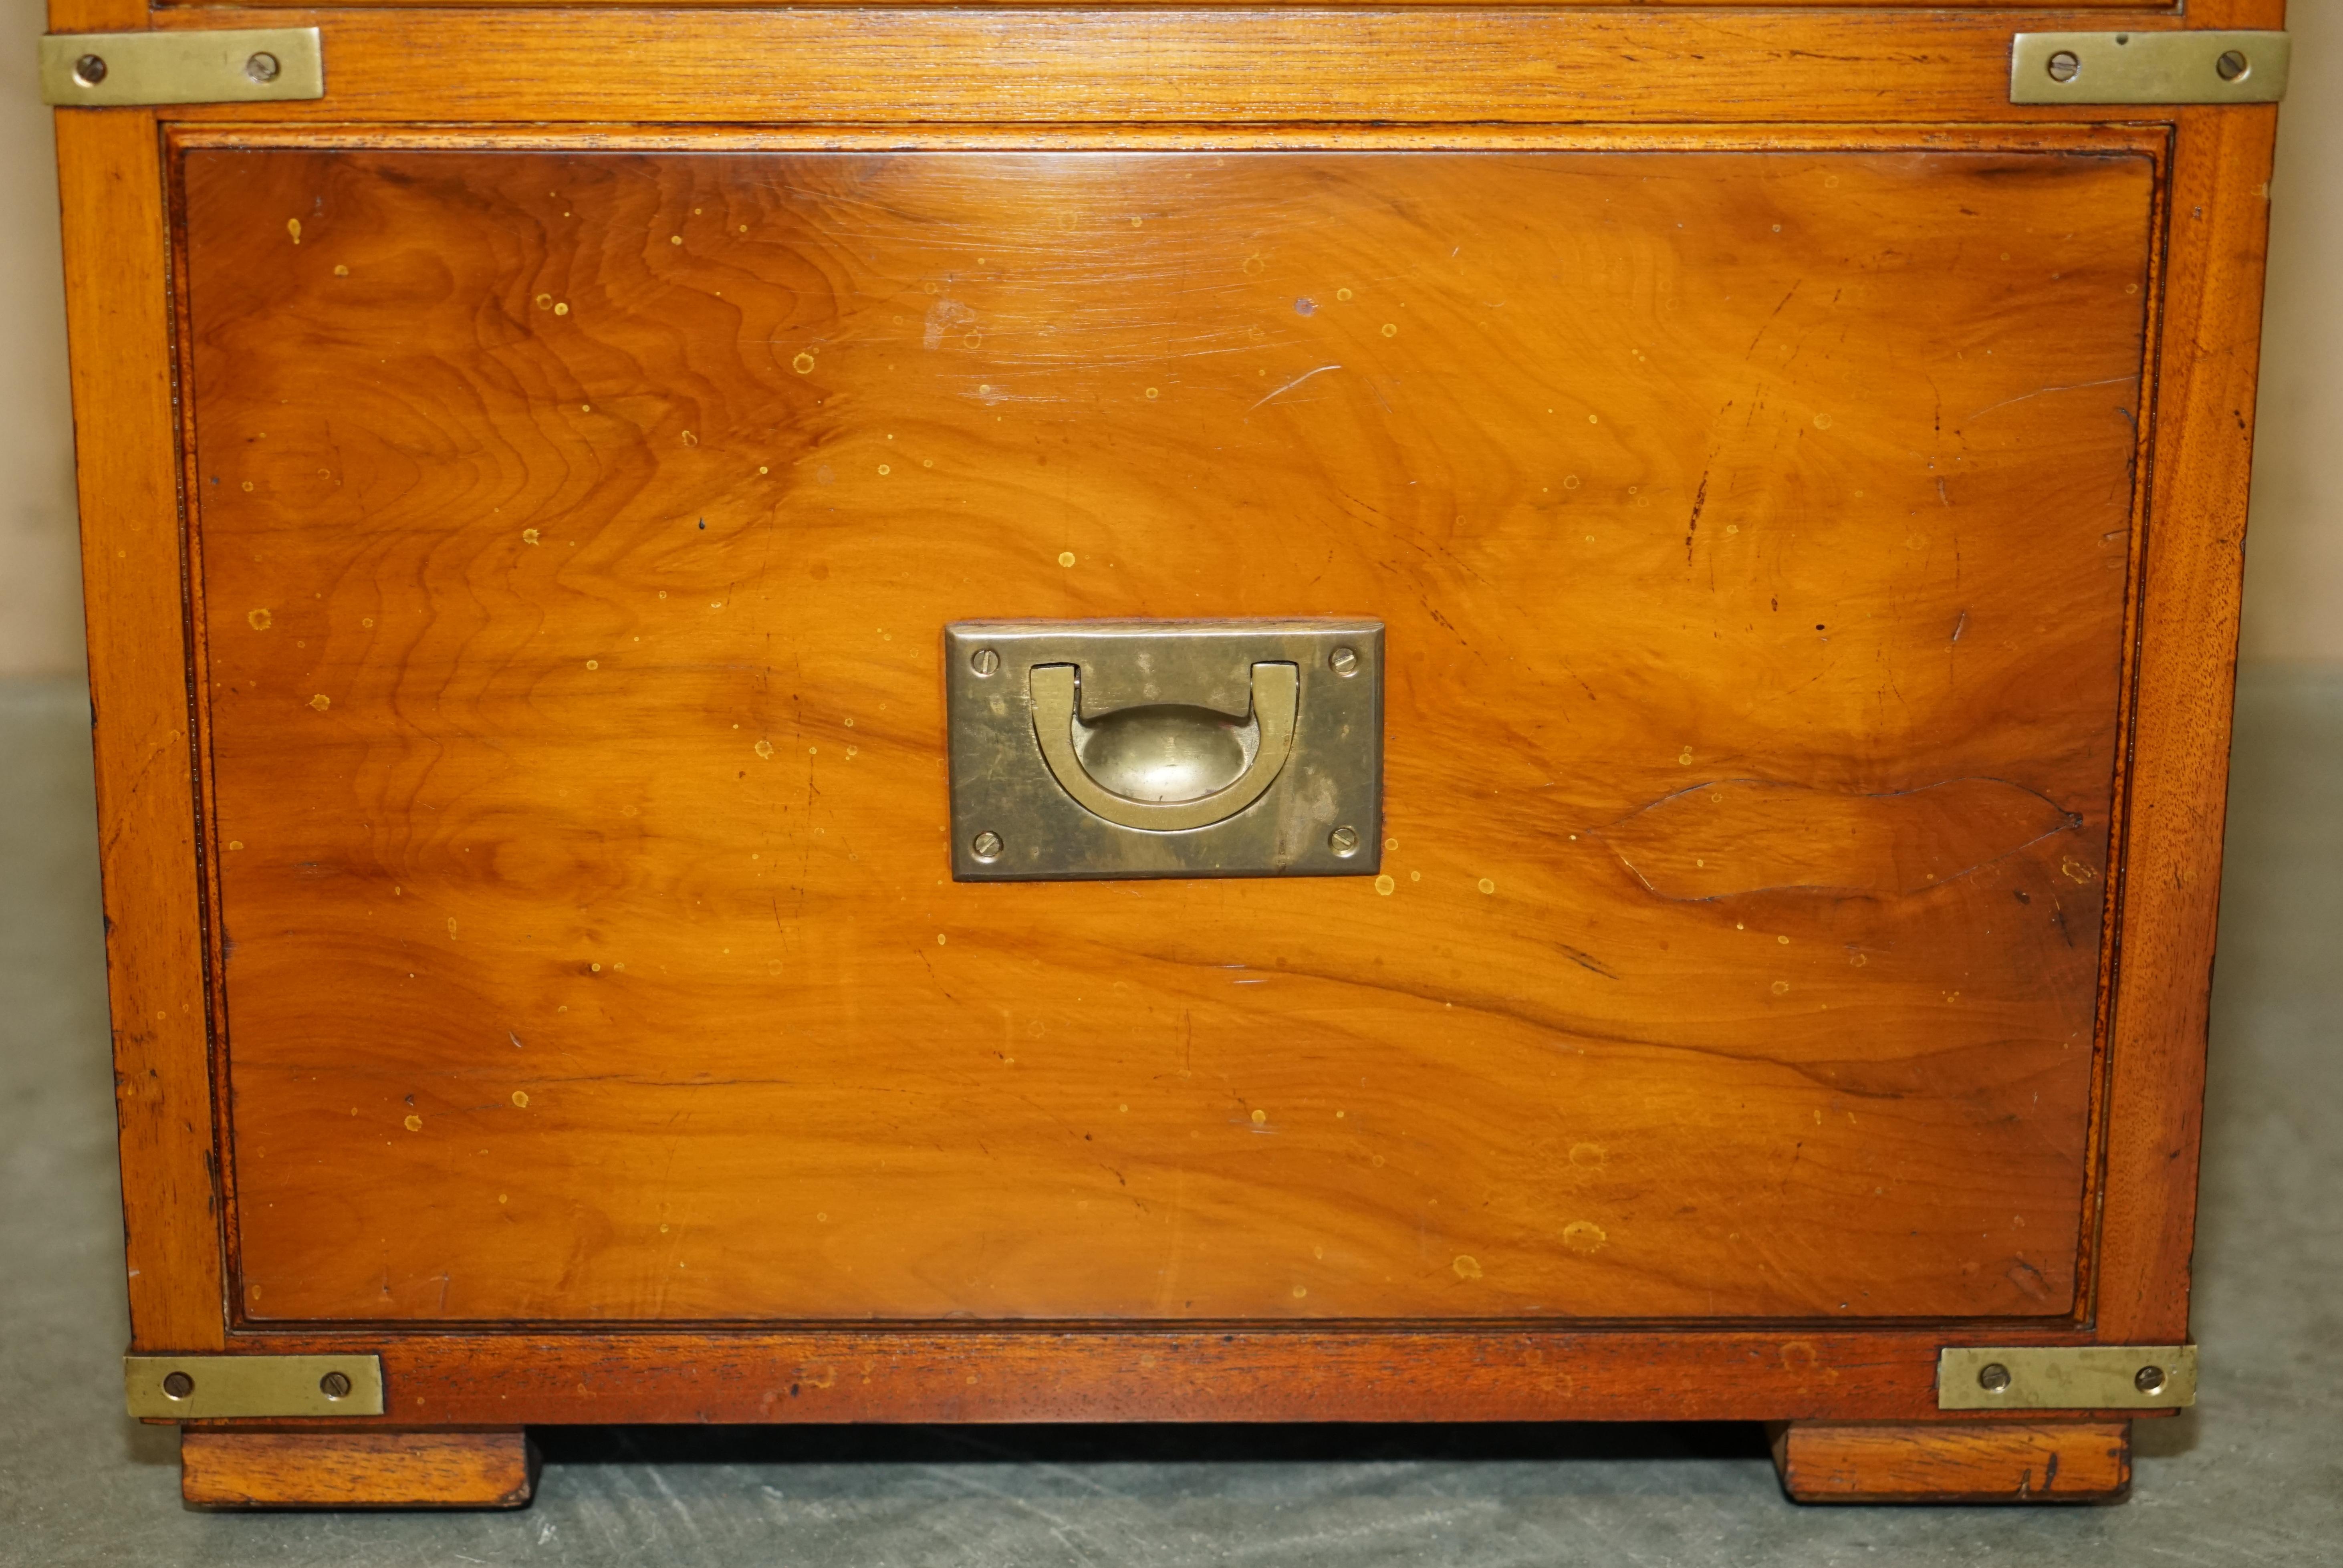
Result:
M2127 1420L1776 1425L1795 1502L2106 1502L2132 1484Z

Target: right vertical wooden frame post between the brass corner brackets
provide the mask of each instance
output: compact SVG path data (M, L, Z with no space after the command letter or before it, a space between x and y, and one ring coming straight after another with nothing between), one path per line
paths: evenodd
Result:
M2186 110L2167 202L2123 959L2109 1024L2106 1216L2095 1261L2111 1343L2188 1336L2275 136L2275 105Z

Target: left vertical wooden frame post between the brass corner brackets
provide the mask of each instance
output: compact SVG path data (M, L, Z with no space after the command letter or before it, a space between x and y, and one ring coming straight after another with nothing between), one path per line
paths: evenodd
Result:
M131 1336L223 1345L201 851L150 115L59 115Z

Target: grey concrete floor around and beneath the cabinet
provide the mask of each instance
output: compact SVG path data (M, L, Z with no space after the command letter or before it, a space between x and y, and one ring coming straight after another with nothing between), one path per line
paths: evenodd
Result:
M0 682L0 1563L2343 1563L2343 670L2249 673L2202 1402L2132 1500L1799 1509L1755 1427L555 1430L522 1514L197 1514L122 1416L77 687Z

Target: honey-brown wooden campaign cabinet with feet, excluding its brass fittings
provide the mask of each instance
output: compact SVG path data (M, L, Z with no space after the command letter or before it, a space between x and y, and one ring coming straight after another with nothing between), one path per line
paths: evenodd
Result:
M1054 1418L2123 1486L2163 1376L1938 1355L2188 1338L2270 105L2013 105L2074 12L1992 5L284 21L323 98L59 113L134 1350L382 1369L199 1495ZM1375 874L956 879L1003 616L1380 621Z

